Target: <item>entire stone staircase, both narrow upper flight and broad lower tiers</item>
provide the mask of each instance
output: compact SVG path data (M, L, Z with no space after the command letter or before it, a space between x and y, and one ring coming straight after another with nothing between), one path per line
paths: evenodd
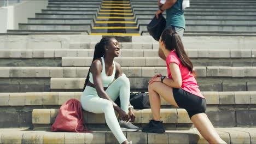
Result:
M19 30L0 35L0 143L118 143L102 114L83 111L94 133L49 130L63 103L80 100L102 34L129 33L127 29L94 29L115 26L111 23L117 20L99 18L117 16L107 14L106 10L117 9L103 8L104 4L125 2L51 0L36 18L20 23ZM137 27L141 36L113 35L121 47L115 61L129 77L132 92L147 92L150 77L166 75L158 42L146 31L157 1L131 0L129 4L131 11L112 12L132 14L135 20L119 19L118 23ZM256 143L256 1L198 0L190 4L185 10L183 43L207 100L207 116L227 143ZM135 115L134 124L140 128L152 118L150 109L135 110ZM161 119L167 130L164 134L124 134L133 143L207 143L187 112L164 100Z

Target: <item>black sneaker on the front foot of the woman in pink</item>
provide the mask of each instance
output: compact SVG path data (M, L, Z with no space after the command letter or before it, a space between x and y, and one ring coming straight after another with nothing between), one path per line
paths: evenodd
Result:
M162 121L149 121L149 124L142 129L145 133L165 133L164 127L162 127Z

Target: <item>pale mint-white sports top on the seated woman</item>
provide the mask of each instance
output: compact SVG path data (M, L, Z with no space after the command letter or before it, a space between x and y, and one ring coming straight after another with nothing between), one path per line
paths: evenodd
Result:
M114 64L113 74L110 75L110 76L107 76L107 75L106 75L106 70L105 70L104 58L101 57L101 60L102 60L101 80L102 80L102 83L103 83L103 87L108 87L109 83L113 82L114 77L115 77L115 63L113 62L113 64ZM89 76L90 76L89 81L90 81L92 84L94 84L94 79L93 79L93 77L92 77L91 72L90 72Z

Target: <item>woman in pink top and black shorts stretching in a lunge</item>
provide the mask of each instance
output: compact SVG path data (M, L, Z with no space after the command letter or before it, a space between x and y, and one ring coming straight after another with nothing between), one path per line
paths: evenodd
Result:
M153 119L142 131L165 132L160 121L161 95L171 105L187 110L197 130L209 143L225 143L214 130L205 113L206 100L199 90L193 64L185 53L179 35L170 29L165 29L159 40L159 47L166 57L168 77L155 75L149 81L148 92Z

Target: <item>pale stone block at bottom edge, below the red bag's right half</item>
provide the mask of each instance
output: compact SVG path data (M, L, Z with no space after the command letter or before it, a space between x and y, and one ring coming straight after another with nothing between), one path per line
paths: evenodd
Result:
M64 143L85 143L85 133L65 133Z

